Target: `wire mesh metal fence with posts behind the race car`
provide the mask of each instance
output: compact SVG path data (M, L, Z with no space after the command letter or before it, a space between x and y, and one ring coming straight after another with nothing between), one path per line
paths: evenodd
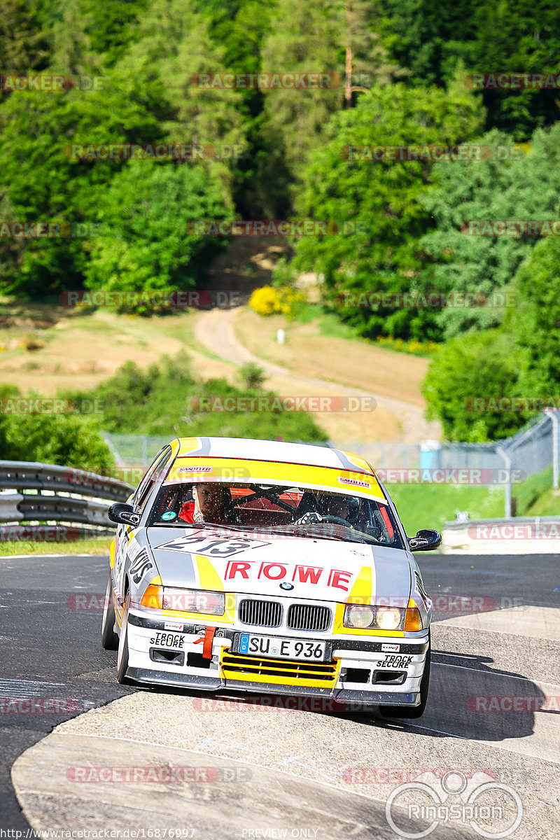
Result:
M381 475L384 470L394 470L394 475L387 479L389 483L453 482L453 470L470 471L466 483L505 488L505 517L510 517L512 485L552 465L552 486L558 487L559 426L560 411L550 409L537 415L512 437L490 444L436 440L425 440L418 444L348 441L336 444L336 448L362 455L376 470L381 471ZM144 469L170 440L169 436L142 434L103 433L103 437L113 451L118 466ZM320 445L333 447L335 444L329 442Z

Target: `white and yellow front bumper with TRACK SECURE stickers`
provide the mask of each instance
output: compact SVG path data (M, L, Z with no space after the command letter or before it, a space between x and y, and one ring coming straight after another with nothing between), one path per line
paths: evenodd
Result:
M128 677L141 683L203 691L244 691L330 698L367 705L417 706L428 630L406 637L331 637L325 663L249 657L232 651L238 630L217 627L202 656L205 627L185 626L181 647L160 647L164 622L128 617ZM317 639L318 640L318 639ZM321 639L324 641L325 639ZM396 654L383 651L399 646ZM396 659L390 659L394 655Z

